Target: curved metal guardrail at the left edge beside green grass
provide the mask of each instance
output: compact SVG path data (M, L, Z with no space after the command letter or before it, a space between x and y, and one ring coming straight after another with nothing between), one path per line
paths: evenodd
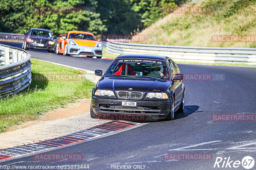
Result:
M12 96L31 84L31 55L0 44L0 98Z

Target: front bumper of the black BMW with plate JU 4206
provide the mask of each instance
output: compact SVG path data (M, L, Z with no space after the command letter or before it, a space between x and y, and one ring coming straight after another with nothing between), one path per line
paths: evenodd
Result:
M122 106L122 101L137 102L137 107ZM92 110L98 115L142 115L149 119L164 119L170 113L171 100L132 101L92 96ZM149 118L149 119L148 119Z

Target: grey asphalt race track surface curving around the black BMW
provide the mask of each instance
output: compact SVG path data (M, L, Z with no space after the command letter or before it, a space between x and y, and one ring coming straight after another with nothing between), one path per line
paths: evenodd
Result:
M2 42L1 42L2 43ZM17 43L5 43L21 47ZM33 58L88 70L106 70L112 60L77 58L28 50ZM33 155L9 159L1 165L89 165L90 169L244 169L236 160L256 158L254 121L212 121L212 114L256 114L256 67L178 64L181 73L211 74L215 80L184 81L185 110L173 121L142 123L111 135L56 148L44 153L82 153L79 161L35 161ZM195 76L194 76L195 77ZM220 78L221 77L221 78ZM220 80L220 79L221 80ZM247 119L248 120L248 119ZM209 153L211 160L165 160L164 153ZM230 166L214 168L217 157L230 157ZM225 159L226 160L226 159ZM222 166L223 161L220 162ZM227 161L226 161L227 162ZM136 165L136 167L134 166ZM135 168L134 168L135 167ZM256 165L254 165L255 169ZM252 168L252 169L253 169ZM73 168L75 169L75 168Z

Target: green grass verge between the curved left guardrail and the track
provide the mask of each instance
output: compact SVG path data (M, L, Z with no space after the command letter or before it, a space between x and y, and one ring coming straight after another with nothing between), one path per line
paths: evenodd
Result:
M32 78L35 75L48 77L47 74L84 74L81 71L31 59ZM29 89L10 97L0 99L0 132L12 125L35 120L45 112L75 103L78 98L90 98L95 83L81 81L34 81Z

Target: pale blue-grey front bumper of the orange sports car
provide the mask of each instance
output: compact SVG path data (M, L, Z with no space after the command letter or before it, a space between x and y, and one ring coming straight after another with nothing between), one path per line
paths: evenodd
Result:
M91 47L91 46L79 46L68 44L68 54L69 55L87 55L88 57L102 57L102 46L101 47Z

